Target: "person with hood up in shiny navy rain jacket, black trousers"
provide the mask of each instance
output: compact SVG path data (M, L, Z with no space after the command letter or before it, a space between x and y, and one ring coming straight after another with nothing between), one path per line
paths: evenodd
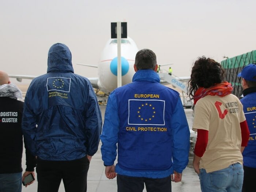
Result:
M37 156L38 192L84 192L91 157L98 150L102 120L97 97L87 78L74 74L64 44L48 52L47 74L27 90L22 130Z

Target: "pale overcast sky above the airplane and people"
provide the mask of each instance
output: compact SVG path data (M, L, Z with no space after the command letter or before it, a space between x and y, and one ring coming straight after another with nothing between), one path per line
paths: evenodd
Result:
M139 49L189 76L199 56L220 62L256 50L255 9L255 0L2 0L0 70L45 74L48 50L61 42L72 52L75 73L95 77L97 68L76 63L97 65L110 23L126 21Z

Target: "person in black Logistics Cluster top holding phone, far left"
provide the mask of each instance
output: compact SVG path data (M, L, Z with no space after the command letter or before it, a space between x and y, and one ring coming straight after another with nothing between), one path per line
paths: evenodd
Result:
M7 73L0 71L0 191L22 190L23 102L18 99L22 99L22 92L10 82ZM23 179L30 173L35 175L36 159L28 150L26 165Z

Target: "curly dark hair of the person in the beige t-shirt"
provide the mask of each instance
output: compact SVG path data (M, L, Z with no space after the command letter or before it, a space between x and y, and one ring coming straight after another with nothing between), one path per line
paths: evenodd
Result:
M199 57L193 64L189 84L189 97L194 96L199 87L208 88L223 82L225 71L217 61L205 56Z

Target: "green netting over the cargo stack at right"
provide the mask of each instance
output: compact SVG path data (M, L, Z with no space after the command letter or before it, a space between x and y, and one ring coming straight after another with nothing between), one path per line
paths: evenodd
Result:
M226 71L226 79L232 84L233 94L238 98L242 95L242 87L241 78L238 78L237 74L250 63L256 63L256 50L221 61Z

